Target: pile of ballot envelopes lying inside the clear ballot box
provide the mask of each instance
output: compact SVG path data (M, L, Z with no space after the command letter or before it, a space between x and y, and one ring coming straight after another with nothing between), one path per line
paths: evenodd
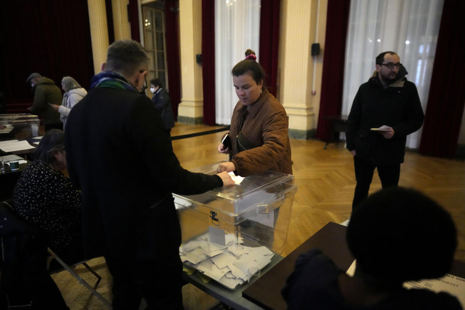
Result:
M210 227L208 233L182 245L179 253L186 266L233 290L253 276L250 268L262 270L274 255L266 247L251 248L243 243L232 233Z

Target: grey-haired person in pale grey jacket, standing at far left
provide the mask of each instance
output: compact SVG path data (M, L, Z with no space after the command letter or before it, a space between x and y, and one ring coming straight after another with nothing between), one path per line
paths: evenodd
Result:
M79 85L79 83L74 78L71 77L62 78L62 90L64 91L62 105L51 106L53 109L60 113L60 121L62 121L64 129L69 112L75 104L81 101L85 95L87 95L87 91L81 87L81 85Z

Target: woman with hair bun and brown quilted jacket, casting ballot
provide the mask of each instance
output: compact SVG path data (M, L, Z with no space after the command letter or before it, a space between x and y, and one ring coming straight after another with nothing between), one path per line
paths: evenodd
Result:
M292 174L286 110L263 87L265 73L256 59L248 49L246 59L233 67L239 101L228 133L231 145L218 146L220 153L230 154L231 161L221 163L218 172L234 171L243 177L265 170Z

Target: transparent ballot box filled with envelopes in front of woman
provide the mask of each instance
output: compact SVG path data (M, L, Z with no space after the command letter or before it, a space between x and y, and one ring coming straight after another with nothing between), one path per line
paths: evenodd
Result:
M218 163L192 170L215 174ZM199 195L173 194L179 213L185 267L234 290L260 274L286 242L297 186L273 171Z

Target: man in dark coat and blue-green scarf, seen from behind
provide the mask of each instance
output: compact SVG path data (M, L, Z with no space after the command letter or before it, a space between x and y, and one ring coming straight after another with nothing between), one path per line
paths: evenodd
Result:
M102 73L66 122L69 176L82 189L84 249L104 255L113 309L183 309L181 229L171 192L233 185L184 170L145 95L149 57L136 41L110 45Z

